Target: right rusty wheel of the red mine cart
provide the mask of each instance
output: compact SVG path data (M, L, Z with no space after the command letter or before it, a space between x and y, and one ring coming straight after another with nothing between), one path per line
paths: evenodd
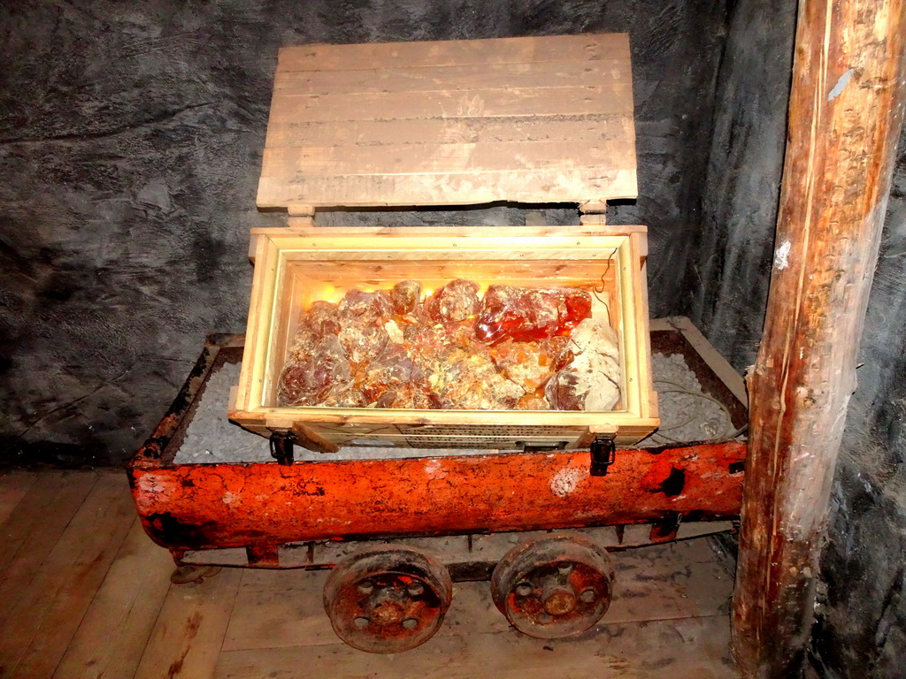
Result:
M491 576L491 596L510 625L555 639L584 632L611 604L610 555L589 540L551 537L510 550Z

